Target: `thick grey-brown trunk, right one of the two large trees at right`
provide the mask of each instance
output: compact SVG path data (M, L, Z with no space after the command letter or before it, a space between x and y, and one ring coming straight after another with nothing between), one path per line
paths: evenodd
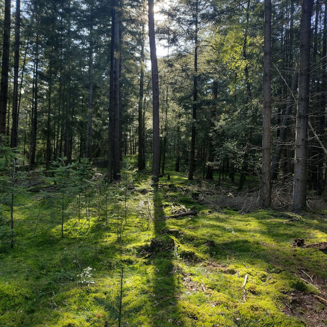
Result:
M311 15L313 0L302 0L300 22L300 59L298 105L296 116L293 210L306 207L307 202L307 142L310 94Z

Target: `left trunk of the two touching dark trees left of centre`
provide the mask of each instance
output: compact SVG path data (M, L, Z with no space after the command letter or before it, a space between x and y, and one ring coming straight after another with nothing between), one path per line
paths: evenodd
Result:
M111 40L110 40L110 91L109 91L109 125L108 125L108 181L112 182L112 166L113 166L113 94L114 94L114 29L115 29L115 1L112 1L111 5Z

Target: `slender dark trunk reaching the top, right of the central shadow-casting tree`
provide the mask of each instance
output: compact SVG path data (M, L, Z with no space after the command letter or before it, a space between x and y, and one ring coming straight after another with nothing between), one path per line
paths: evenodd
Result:
M199 21L198 21L198 7L199 2L195 4L195 36L194 36L194 76L193 76L193 114L192 114L192 136L191 136L191 151L190 151L190 164L189 164L189 179L193 179L195 169L195 137L196 137L196 111L198 101L198 32L199 32Z

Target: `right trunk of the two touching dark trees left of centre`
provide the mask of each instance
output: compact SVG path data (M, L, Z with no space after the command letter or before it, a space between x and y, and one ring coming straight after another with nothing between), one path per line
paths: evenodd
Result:
M114 26L114 73L113 73L113 180L121 179L120 166L120 114L121 114L121 90L120 90L120 74L121 74L121 33L120 33L120 17L116 16Z

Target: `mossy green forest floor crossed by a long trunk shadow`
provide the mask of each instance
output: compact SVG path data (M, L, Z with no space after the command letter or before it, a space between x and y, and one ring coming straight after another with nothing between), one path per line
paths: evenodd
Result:
M17 195L0 326L327 325L326 250L293 244L327 241L324 212L221 208L213 183L170 174L158 190L136 175L126 211L112 199L107 224L96 207L87 222L67 204L64 238L52 202Z

